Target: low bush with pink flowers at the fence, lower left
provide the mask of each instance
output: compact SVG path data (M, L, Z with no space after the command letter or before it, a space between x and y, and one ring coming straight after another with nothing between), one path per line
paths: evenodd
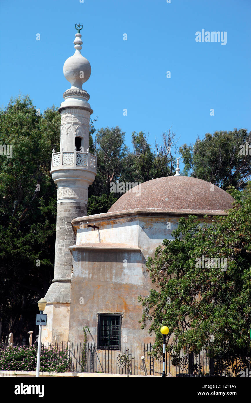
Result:
M42 349L40 371L67 372L70 360L67 351L55 348ZM1 371L35 371L37 365L37 346L11 346L6 350L0 347Z

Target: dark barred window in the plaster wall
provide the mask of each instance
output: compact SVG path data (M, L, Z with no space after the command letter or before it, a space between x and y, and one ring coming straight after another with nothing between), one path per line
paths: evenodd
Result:
M121 338L121 315L98 316L97 348L119 349Z

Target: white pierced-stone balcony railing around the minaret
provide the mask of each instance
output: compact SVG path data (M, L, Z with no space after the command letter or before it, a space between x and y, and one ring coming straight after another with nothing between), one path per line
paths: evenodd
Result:
M97 172L97 156L90 154L89 152L74 151L60 151L55 152L52 150L52 168L84 168L91 169L93 172Z

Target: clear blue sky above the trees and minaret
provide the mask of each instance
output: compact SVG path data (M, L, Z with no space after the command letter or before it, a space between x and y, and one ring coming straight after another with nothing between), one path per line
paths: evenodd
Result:
M171 127L182 145L251 129L250 0L2 0L0 12L0 106L19 93L41 112L60 106L80 22L97 129L120 126L128 145L133 131L154 144ZM202 29L226 31L226 45L196 42Z

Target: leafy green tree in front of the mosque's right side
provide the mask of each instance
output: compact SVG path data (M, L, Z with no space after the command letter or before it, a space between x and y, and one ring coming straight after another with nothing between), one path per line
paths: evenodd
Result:
M198 353L209 347L216 354L228 351L229 357L250 356L251 186L231 192L236 203L228 216L212 218L211 225L201 225L196 216L180 218L173 241L165 239L148 258L156 289L139 300L142 328L150 322L149 332L156 333L156 354L160 327L166 325L169 351L174 346ZM214 258L226 259L221 261L226 270Z

